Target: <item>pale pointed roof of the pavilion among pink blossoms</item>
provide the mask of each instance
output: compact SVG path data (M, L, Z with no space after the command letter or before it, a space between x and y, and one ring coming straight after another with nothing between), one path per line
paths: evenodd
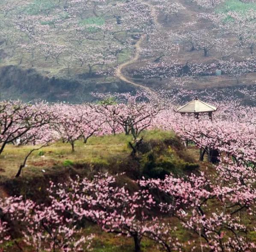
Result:
M216 107L195 98L193 101L179 107L176 112L179 113L198 113L198 112L210 112L217 110Z

